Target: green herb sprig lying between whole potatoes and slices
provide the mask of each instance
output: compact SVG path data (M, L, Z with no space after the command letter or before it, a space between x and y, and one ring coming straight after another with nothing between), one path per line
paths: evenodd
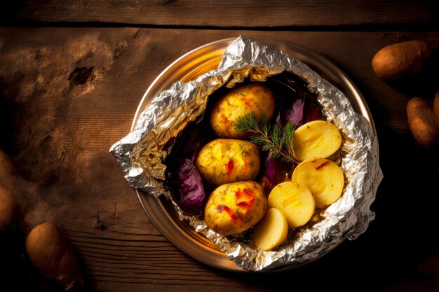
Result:
M251 132L250 141L261 146L262 151L270 151L273 158L281 158L285 162L298 162L294 153L295 146L292 144L295 123L288 122L285 127L270 125L264 114L262 123L259 123L255 113L251 112L237 118L233 125L235 130Z

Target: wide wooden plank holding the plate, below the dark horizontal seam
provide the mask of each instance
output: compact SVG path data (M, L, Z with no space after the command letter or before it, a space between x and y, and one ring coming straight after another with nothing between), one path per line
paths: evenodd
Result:
M198 46L240 34L327 57L358 86L377 126L384 171L372 205L377 218L356 241L288 272L234 274L189 258L151 224L109 153L163 69ZM439 284L439 250L426 235L437 222L431 190L439 158L414 144L405 104L413 95L428 97L437 83L384 83L370 66L380 48L409 39L438 46L439 32L1 28L0 147L17 169L13 194L25 209L23 232L43 221L60 225L79 256L86 291L289 291L302 283L339 291L335 279L342 276L356 291L431 291ZM13 284L24 290L59 291L27 262L24 236L0 240L11 251L1 254L11 272L0 275L20 274Z

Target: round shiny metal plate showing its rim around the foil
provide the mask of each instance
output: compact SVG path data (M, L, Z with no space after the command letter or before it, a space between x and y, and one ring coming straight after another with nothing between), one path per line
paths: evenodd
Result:
M367 104L358 88L352 81L340 70L335 64L332 64L324 57L313 53L306 48L302 48L292 43L269 38L252 38L265 46L278 48L289 53L292 57L307 64L311 69L316 71L320 76L335 85L344 95L351 100L353 109L365 116L372 125L374 123ZM217 69L219 62L224 55L224 50L235 39L222 39L204 46L196 48L191 52L175 60L168 68L163 70L160 75L149 86L142 100L137 107L137 112L133 120L132 129L134 129L140 113L147 109L147 106L159 92L167 90L170 85L176 81L187 82L196 79L213 69ZM375 133L376 134L376 133ZM213 245L203 235L194 231L187 222L180 221L172 204L161 196L160 199L140 190L137 191L142 207L156 228L179 249L187 253L192 258L199 260L212 267L232 272L247 272L239 265L229 260L226 254Z

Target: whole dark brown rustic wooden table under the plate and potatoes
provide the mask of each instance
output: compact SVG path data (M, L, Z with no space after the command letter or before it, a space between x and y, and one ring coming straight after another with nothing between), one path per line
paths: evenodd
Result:
M391 43L439 46L435 1L19 1L0 4L0 147L15 165L23 233L5 239L0 291L60 291L29 263L26 232L55 222L86 291L439 291L436 150L415 144L405 105L439 90L439 70L384 83L371 60ZM109 148L130 131L154 78L189 50L269 36L327 57L370 107L384 180L367 232L288 272L208 267L151 224ZM7 288L11 284L12 288Z

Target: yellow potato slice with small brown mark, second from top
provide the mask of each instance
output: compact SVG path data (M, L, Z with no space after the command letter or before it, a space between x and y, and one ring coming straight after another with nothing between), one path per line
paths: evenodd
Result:
M335 162L324 158L311 158L297 165L291 181L307 186L316 199L318 208L327 207L337 201L344 187L342 169Z

